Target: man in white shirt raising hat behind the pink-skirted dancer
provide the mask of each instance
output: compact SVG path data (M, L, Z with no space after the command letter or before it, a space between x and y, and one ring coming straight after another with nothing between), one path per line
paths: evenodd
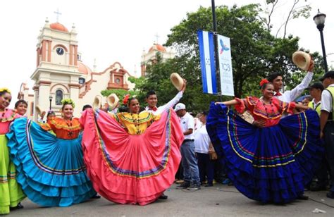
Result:
M156 92L153 90L147 92L146 102L148 106L146 106L145 110L153 113L154 115L159 115L160 113L163 113L163 111L173 108L173 106L175 106L175 104L177 104L178 101L180 101L180 99L183 97L185 87L186 82L180 92L178 92L178 94L176 94L176 96L171 101L168 101L168 103L164 104L163 106L159 106L159 108L156 107L156 104L158 104L158 97L156 97Z

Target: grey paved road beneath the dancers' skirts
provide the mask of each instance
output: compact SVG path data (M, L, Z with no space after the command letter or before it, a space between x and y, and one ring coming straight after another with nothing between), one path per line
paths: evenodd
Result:
M25 199L25 209L12 211L10 216L334 216L330 207L334 199L326 198L326 192L306 192L308 201L285 205L260 204L225 185L202 187L195 192L176 190L173 185L166 194L167 200L147 206L114 204L101 198L66 208L42 208ZM316 208L326 213L312 213Z

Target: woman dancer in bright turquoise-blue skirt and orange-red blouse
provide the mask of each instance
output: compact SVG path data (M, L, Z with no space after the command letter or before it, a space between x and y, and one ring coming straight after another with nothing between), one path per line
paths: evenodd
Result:
M40 206L70 206L96 194L83 162L81 126L73 118L75 104L63 99L63 118L47 124L18 118L7 134L18 182L27 197ZM53 130L56 136L45 130Z

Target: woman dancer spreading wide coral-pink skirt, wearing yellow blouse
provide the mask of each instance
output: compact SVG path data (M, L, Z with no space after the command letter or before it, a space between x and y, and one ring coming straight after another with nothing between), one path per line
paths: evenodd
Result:
M173 110L161 116L140 113L136 98L129 112L109 115L87 109L80 121L85 163L94 189L120 204L154 202L173 184L183 133Z

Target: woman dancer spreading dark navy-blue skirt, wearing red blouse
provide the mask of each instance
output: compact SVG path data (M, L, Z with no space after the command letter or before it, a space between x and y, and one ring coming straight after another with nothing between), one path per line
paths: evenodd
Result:
M206 128L237 190L260 202L287 203L303 197L304 185L321 161L319 119L311 109L280 119L295 108L308 108L273 97L273 85L267 80L260 86L259 99L212 103ZM264 120L265 127L247 123L228 108L232 105Z

